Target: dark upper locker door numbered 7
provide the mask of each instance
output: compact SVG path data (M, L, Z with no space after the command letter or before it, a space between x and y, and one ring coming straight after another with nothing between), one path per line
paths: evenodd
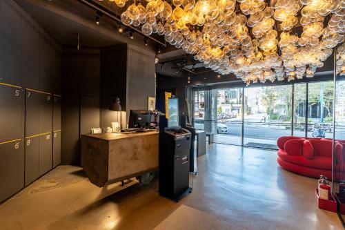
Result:
M26 90L25 106L25 136L39 134L39 97L40 93Z

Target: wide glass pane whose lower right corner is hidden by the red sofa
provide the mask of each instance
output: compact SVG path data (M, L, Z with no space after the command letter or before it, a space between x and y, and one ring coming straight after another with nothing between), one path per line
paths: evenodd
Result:
M292 85L244 89L244 145L277 148L291 135Z

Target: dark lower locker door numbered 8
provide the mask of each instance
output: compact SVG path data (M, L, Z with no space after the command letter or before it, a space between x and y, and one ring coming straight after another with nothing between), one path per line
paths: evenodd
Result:
M39 135L25 140L25 185L39 178Z

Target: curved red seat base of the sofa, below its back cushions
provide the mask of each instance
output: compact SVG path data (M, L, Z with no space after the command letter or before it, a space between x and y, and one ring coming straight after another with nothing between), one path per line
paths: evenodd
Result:
M332 157L314 156L312 160L303 155L288 155L286 151L279 149L278 156L293 164L310 167L313 169L332 170Z

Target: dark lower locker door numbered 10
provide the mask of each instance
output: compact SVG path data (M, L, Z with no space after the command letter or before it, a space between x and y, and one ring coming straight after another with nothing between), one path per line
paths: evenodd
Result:
M39 136L39 175L52 169L52 133Z

